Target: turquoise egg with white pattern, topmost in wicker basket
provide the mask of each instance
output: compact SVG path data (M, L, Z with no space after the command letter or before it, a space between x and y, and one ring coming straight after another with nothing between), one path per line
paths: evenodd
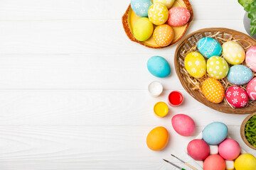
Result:
M197 42L197 47L201 55L206 58L220 56L222 52L220 43L213 38L201 38Z

